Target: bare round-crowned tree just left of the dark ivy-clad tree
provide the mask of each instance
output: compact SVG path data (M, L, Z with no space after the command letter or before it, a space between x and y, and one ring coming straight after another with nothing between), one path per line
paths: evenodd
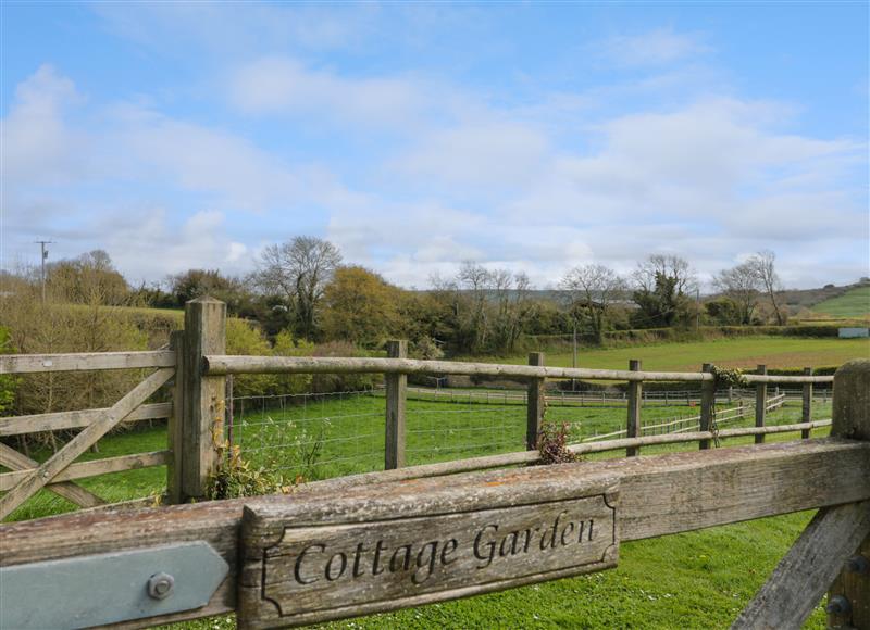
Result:
M601 343L613 301L627 288L625 280L604 265L583 265L569 270L559 288L568 294L574 322L587 322L596 342Z

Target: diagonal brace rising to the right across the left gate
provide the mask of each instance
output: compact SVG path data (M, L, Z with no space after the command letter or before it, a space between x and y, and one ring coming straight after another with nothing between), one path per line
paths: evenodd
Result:
M148 400L163 383L172 378L174 373L175 369L172 367L164 367L154 371L110 407L108 412L102 414L99 419L70 440L47 462L29 471L27 477L22 479L15 488L0 497L0 518L9 516L13 509L36 494L46 483L52 481L61 470L72 464L97 440L102 438L121 420L132 414L136 407Z

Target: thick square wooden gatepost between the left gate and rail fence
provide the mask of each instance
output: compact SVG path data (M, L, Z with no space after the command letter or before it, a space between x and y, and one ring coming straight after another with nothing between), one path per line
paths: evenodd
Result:
M226 353L226 304L198 298L184 308L184 410L181 430L181 500L201 499L219 462L224 437L226 379L204 376L202 357Z

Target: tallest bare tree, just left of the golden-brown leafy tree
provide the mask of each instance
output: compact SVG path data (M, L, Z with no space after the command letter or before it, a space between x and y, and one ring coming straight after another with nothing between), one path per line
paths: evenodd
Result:
M263 291L282 295L293 311L297 332L313 339L318 331L318 306L340 263L341 254L330 241L296 237L263 250L253 281Z

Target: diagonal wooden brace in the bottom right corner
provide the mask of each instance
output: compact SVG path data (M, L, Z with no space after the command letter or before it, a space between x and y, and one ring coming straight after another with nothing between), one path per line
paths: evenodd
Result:
M731 628L800 628L868 534L870 501L820 511Z

